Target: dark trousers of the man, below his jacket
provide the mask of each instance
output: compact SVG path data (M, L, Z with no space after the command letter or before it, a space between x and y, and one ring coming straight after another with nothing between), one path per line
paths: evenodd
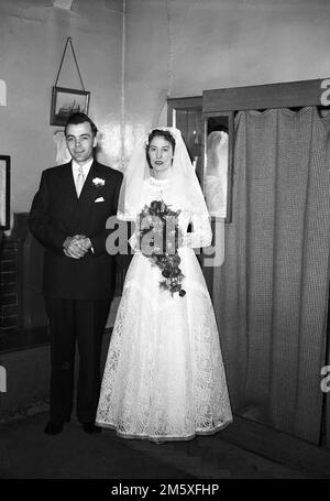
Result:
M45 298L51 329L51 422L70 417L74 396L75 347L79 372L77 417L94 423L100 392L100 352L111 298Z

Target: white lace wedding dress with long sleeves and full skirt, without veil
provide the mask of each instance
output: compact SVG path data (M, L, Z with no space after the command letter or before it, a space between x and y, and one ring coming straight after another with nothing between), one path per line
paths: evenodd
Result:
M145 181L142 198L182 205L167 179ZM232 421L215 312L191 248L209 246L211 229L194 207L179 215L184 231L189 221L194 232L179 249L184 297L161 291L161 270L139 250L127 273L96 418L122 437L190 439Z

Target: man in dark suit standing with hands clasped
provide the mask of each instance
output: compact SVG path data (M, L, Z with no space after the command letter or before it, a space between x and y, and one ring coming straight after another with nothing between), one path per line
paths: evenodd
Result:
M100 351L114 287L114 261L106 250L106 221L117 214L122 174L94 159L97 128L81 112L65 127L72 161L42 173L29 218L44 246L43 293L51 330L51 410L45 433L69 422L77 340L77 417L99 433L95 416L100 389Z

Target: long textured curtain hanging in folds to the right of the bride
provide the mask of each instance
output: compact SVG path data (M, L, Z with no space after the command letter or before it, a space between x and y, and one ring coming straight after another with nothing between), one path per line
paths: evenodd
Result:
M330 117L235 117L233 216L212 295L235 414L319 443L329 286Z

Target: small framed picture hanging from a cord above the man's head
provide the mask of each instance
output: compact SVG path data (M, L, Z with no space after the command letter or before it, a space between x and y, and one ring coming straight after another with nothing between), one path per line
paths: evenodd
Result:
M51 106L51 126L64 127L75 111L88 115L90 92L88 90L53 87Z

